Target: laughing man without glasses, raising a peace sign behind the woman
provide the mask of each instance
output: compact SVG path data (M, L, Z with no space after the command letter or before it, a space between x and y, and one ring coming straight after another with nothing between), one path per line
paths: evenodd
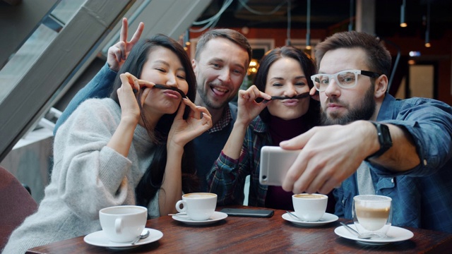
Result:
M71 100L59 117L54 133L85 99L109 97L112 80L124 63L133 45L138 42L144 24L127 41L127 19L123 19L119 42L108 50L107 63L83 89ZM193 140L196 173L200 190L208 191L206 175L220 155L237 118L237 106L230 101L237 95L251 61L251 46L246 37L230 29L214 29L205 32L196 45L192 66L196 75L195 104L206 107L212 116L213 126Z

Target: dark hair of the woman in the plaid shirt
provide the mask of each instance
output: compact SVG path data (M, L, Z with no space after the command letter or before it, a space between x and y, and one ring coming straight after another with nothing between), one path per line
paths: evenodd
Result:
M300 49L297 49L292 46L284 46L272 49L268 52L259 63L259 68L256 73L256 78L254 78L254 84L258 88L258 90L265 92L266 84L267 84L267 76L268 70L270 66L283 58L291 58L295 59L300 67L302 68L304 75L306 76L309 89L314 87L314 83L312 83L311 75L316 74L316 63L308 54L302 52ZM309 110L307 114L302 116L304 119L307 119L307 123L310 126L316 126L319 123L319 114L320 114L320 104L315 99L309 99ZM261 111L261 119L264 123L268 123L270 121L270 112L267 108Z

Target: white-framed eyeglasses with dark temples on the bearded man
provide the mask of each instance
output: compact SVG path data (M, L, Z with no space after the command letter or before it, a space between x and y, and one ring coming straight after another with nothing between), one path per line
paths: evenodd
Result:
M347 71L340 71L338 73L334 74L316 74L311 75L311 80L314 82L314 87L316 87L316 90L323 92L326 90L326 87L330 84L330 81L332 78L336 80L336 83L341 88L352 88L355 87L358 80L358 74L361 75L367 75L371 78L378 78L380 76L379 73L374 73L371 71L361 71L361 70L347 70Z

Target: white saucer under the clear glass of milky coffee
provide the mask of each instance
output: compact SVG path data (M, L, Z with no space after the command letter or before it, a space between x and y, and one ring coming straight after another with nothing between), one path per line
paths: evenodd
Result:
M354 224L349 224L348 226L352 227L352 229L356 229L356 226ZM414 236L414 234L412 234L412 231L410 231L408 229L402 229L398 226L391 226L388 230L388 233L386 233L387 237L381 238L381 239L372 239L372 238L360 239L360 238L358 238L357 235L352 234L352 233L350 233L350 231L345 229L345 226L338 226L337 228L334 229L334 233L337 234L338 236L342 236L343 238L355 240L358 243L369 244L369 245L383 245L383 244L388 244L388 243L393 243L393 242L398 242L398 241L405 241L405 240L412 238L412 236Z

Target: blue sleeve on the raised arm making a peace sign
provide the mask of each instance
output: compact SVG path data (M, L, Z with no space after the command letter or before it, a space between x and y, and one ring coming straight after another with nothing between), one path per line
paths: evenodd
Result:
M79 90L76 96L71 99L71 102L69 102L66 109L64 109L63 114L61 114L55 124L54 135L57 133L59 126L71 116L72 112L76 110L78 105L84 102L85 99L109 97L112 93L112 85L116 75L117 73L112 71L108 64L105 63L105 66L100 69L90 83Z

